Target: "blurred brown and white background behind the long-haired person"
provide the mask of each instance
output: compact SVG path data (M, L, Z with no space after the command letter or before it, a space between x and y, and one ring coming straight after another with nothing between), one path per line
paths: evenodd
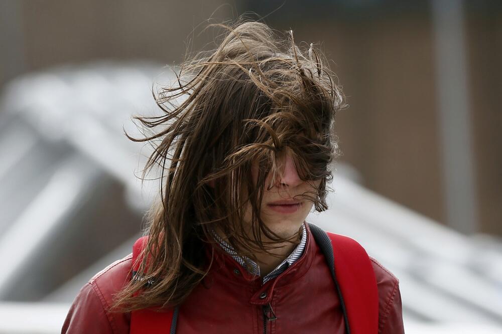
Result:
M158 190L131 116L252 11L331 60L349 108L330 209L400 279L407 333L502 329L502 3L0 0L0 333L60 330ZM106 236L106 238L103 238Z

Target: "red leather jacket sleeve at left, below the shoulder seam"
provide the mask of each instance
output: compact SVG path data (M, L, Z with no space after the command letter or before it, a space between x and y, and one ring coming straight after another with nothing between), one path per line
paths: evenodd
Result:
M90 283L75 297L61 329L61 334L64 333L113 334L108 314Z

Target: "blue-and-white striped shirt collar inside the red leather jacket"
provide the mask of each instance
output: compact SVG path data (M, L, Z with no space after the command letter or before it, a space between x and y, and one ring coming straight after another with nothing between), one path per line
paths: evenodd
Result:
M305 224L302 225L302 228L303 228L302 239L300 243L296 246L293 252L287 258L285 258L274 270L272 270L270 273L268 273L262 278L262 284L265 284L271 279L279 276L283 271L285 271L289 266L295 263L302 256L303 252L305 251L305 244L307 243L307 230L305 229ZM227 252L228 255L230 255L235 261L237 261L242 267L246 268L246 263L248 263L250 265L248 271L257 276L261 276L260 266L258 265L258 263L247 257L238 256L237 252L230 244L221 239L220 236L218 236L216 233L213 233L213 235L218 244L220 245L220 247L225 252Z

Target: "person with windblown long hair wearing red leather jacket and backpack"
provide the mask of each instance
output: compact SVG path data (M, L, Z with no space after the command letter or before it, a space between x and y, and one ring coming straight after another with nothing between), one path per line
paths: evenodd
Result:
M216 48L156 95L163 114L135 116L159 131L126 133L156 142L144 173L160 166L159 197L62 333L404 333L399 280L306 222L328 209L345 107L326 58L261 22L215 26Z

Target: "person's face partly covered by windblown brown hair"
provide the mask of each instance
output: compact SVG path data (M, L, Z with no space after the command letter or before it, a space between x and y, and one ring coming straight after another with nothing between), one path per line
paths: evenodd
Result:
M280 172L275 183L273 183L271 173L267 175L260 217L269 229L283 238L289 238L298 233L314 205L298 195L305 192L315 192L321 181L307 183L301 180L289 153L282 155L278 166ZM258 180L257 165L252 166L252 176L256 184ZM268 188L271 189L268 190ZM294 198L295 196L297 197ZM290 202L290 204L286 204L286 202ZM250 210L251 206L248 204L244 217L247 222L251 221ZM266 239L264 238L264 240Z

